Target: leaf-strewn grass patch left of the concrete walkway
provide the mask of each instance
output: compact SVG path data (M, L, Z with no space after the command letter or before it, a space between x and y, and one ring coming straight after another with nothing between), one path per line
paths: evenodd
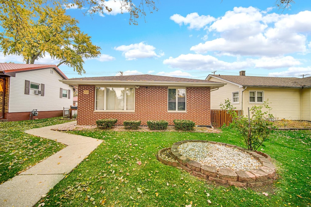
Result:
M13 178L18 172L25 170L30 165L36 164L65 147L65 145L59 142L23 132L27 129L67 122L58 119L59 117L0 122L0 183Z

